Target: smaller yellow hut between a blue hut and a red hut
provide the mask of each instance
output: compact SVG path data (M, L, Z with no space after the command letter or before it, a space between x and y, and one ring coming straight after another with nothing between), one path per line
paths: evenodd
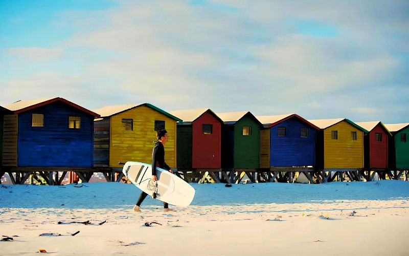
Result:
M367 130L346 118L308 121L321 129L316 136L316 166L319 170L355 172L363 168L363 135L368 133ZM358 174L352 175L356 175L354 179L358 178ZM328 176L325 181L332 178Z

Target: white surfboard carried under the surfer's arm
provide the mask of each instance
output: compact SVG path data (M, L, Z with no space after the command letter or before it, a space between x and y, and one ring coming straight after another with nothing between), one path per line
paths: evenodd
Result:
M157 181L152 178L152 166L147 163L126 162L122 173L135 186L152 196L156 189L156 199L177 206L188 206L195 196L195 189L176 175L156 167Z

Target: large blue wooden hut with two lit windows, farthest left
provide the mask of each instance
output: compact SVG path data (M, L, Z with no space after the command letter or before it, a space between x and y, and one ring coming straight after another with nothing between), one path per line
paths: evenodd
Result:
M93 167L98 114L59 97L21 100L6 108L13 114L4 120L4 166Z

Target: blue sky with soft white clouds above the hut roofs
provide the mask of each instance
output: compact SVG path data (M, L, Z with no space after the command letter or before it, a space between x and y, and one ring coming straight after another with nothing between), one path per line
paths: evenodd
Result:
M0 0L0 105L409 122L409 1Z

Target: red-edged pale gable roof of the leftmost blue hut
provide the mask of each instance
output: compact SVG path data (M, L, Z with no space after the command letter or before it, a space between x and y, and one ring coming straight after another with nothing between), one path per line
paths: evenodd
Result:
M24 113L32 109L36 109L39 106L48 105L50 103L57 102L57 101L63 102L65 104L69 104L73 106L74 108L81 110L91 116L99 117L97 113L87 110L80 105L77 105L69 100L66 100L60 97L48 98L48 99L36 99L36 100L19 100L10 105L7 105L6 108L13 111L14 114L19 114L19 113Z

